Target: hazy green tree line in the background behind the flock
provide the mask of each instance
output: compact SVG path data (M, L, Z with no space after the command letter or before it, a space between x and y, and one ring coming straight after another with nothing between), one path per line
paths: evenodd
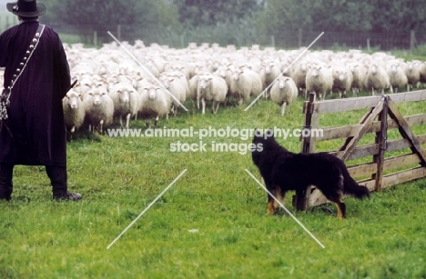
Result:
M244 45L245 39L303 32L393 32L426 28L423 0L45 0L44 20L59 29L108 39L185 45L203 40ZM108 40L109 41L109 40Z

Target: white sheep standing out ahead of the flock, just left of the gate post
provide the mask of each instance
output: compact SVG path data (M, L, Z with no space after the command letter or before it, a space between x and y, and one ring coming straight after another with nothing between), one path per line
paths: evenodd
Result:
M298 87L289 76L279 76L270 87L270 99L279 105L279 114L284 115L286 105L293 103L298 97Z

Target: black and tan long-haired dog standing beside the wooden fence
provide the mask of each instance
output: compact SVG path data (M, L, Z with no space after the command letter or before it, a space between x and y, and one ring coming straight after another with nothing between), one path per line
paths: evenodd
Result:
M295 154L280 146L271 130L265 135L255 131L251 149L253 163L259 168L266 187L282 201L289 190L305 190L310 184L320 189L338 209L338 217L346 217L344 194L363 199L370 197L367 187L350 177L346 165L338 157L328 153ZM279 208L268 194L268 214Z

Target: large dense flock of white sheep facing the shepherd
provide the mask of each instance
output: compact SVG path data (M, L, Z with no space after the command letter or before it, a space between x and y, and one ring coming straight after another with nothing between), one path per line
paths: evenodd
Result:
M255 98L270 99L284 115L298 95L315 92L319 98L337 93L356 96L360 90L383 94L409 91L426 82L426 62L404 62L383 52L236 49L233 45L189 44L185 49L113 42L100 49L65 45L73 80L63 100L68 131L82 125L102 133L114 119L128 128L141 117L147 126L176 115L192 100L205 114L206 104L216 114L220 104L249 105ZM303 52L303 55L300 54ZM299 56L299 59L296 59ZM200 105L201 103L201 105ZM126 124L123 124L123 118Z

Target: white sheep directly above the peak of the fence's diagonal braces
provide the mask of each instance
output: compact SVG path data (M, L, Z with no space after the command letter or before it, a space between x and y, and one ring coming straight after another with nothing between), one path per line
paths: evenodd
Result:
M375 90L380 90L381 94L384 95L385 89L390 89L393 93L391 81L384 66L375 62L371 63L365 79L365 88L371 89L371 95L375 95Z

